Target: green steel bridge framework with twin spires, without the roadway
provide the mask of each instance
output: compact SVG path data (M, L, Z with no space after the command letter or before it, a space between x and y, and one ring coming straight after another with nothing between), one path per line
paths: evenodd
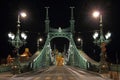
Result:
M86 70L98 69L99 63L88 57L82 50L77 49L76 44L73 40L74 24L75 20L73 17L74 7L71 9L70 26L68 28L54 29L50 26L50 20L48 17L48 8L46 8L46 19L45 19L45 32L47 34L47 39L45 41L42 50L38 50L30 59L29 68L32 70L37 70L41 67L48 67L55 63L55 58L52 55L52 49L50 42L52 39L61 37L66 38L69 41L68 56L65 59L66 65L77 66Z

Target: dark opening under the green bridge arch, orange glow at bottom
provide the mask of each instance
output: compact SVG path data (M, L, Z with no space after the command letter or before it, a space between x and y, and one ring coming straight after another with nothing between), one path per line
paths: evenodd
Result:
M67 51L70 41L65 37L54 37L50 44L52 48L52 55L55 58L55 65L62 66L65 64L67 58Z

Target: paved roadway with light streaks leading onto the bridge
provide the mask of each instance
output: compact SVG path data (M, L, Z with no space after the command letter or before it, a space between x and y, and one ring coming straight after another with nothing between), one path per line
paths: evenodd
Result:
M11 77L0 77L0 80L111 80L97 73L68 66L52 66L46 70L37 70Z

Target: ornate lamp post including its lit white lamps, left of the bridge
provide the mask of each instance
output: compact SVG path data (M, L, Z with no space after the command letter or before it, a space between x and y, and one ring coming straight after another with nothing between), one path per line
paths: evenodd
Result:
M26 44L26 39L27 39L27 35L24 32L20 31L21 17L26 17L26 14L24 12L18 14L17 33L16 34L13 34L12 32L8 33L8 37L9 37L8 41L12 44L12 46L15 47L16 50L17 56L15 57L14 66L12 66L13 68L18 70L18 72L16 73L20 73L19 49L20 47Z

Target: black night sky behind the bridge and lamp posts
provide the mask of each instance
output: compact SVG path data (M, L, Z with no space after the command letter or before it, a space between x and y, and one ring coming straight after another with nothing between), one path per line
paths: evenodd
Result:
M7 34L16 32L17 15L20 11L27 12L27 18L21 19L21 31L28 35L27 44L20 49L28 47L32 54L37 50L36 41L39 36L46 39L45 8L49 6L50 26L53 28L66 28L69 26L70 6L75 6L75 36L80 36L84 41L83 50L91 58L99 61L99 47L93 44L92 34L99 29L98 20L92 17L92 12L98 9L103 15L104 32L112 33L111 42L107 46L107 61L115 63L116 55L120 58L119 39L119 0L0 0L0 59L6 58L8 54L13 55L14 47L8 43ZM52 40L52 44L60 47L60 40L68 44L68 40L57 38ZM79 45L76 42L77 45ZM41 43L44 45L44 42ZM59 47L57 47L59 48ZM60 48L60 51L61 48ZM120 63L120 59L119 59Z

